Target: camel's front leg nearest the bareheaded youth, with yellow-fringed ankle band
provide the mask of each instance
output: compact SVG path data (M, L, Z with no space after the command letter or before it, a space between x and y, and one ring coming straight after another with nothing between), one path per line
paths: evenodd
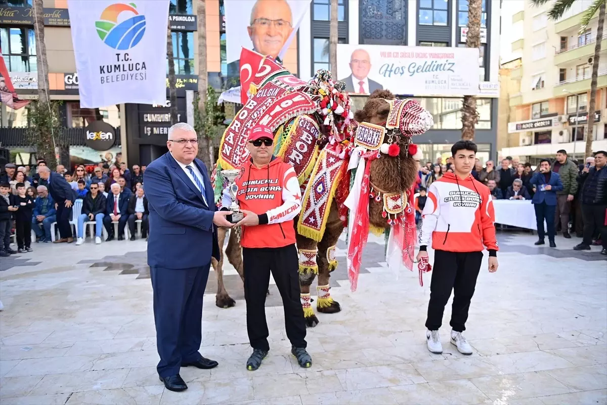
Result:
M316 262L318 264L318 286L316 287L318 298L316 301L316 309L322 313L336 313L341 311L339 302L334 301L333 298L331 298L329 279L331 271L337 268L335 245L342 231L344 231L344 224L339 219L337 203L333 201L327 219L325 234L318 243L318 256L316 257Z

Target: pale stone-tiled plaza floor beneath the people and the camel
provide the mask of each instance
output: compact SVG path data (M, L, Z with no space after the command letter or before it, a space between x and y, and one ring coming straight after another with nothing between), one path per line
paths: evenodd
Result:
M331 294L341 313L308 329L311 369L290 356L276 288L266 302L270 356L245 369L242 282L226 265L236 307L215 307L214 274L203 309L202 355L213 370L181 369L189 389L158 381L152 288L144 242L36 244L0 259L0 403L4 404L606 404L607 260L598 247L571 250L557 237L537 248L529 234L500 233L500 268L486 259L466 337L426 349L430 275L385 268L371 238L358 291L351 293L343 240ZM377 243L382 242L382 243ZM430 253L432 256L432 253Z

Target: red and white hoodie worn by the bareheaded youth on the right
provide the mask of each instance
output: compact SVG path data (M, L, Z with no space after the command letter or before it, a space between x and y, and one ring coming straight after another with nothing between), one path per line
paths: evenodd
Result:
M489 188L472 175L462 180L447 172L433 182L422 219L420 250L426 250L430 242L433 249L450 252L478 252L486 247L495 256L499 250Z

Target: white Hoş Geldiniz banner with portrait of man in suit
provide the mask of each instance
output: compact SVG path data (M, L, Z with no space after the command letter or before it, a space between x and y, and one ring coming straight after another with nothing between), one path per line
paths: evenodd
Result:
M337 44L337 78L346 91L462 96L479 93L478 49Z

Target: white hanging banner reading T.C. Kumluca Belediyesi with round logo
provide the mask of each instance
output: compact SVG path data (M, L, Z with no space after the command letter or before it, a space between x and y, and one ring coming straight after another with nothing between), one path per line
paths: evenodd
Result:
M166 100L169 0L68 0L80 106Z

